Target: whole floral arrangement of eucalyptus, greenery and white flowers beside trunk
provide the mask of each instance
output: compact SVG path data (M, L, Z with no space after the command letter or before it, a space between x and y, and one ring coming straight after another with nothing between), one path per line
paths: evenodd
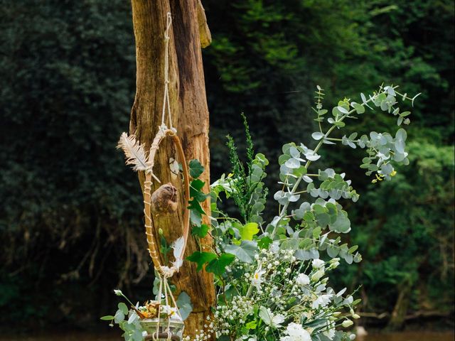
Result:
M213 273L218 294L217 305L204 329L183 340L213 340L214 336L219 341L355 339L352 332L344 330L353 325L353 319L360 318L355 313L360 300L355 300L353 293L346 293L346 288L331 288L328 274L342 260L347 264L361 261L358 247L344 242L351 227L341 205L343 200L357 201L359 195L345 173L315 167L321 158L318 152L322 146L336 143L363 148L366 155L360 168L373 177L372 182L392 180L397 172L395 166L409 164L405 151L407 134L402 125L410 124L410 112L400 111L398 99L413 104L417 96L410 98L398 92L397 86L381 85L368 97L360 94L360 102L343 99L328 114L323 108L323 89L317 87L313 109L319 131L311 135L316 146L311 149L289 143L282 147L278 160L281 190L274 193L277 215L269 222L262 217L268 194L263 180L269 161L263 154L255 154L245 117L247 161L240 161L235 142L228 136L232 173L211 185L210 226L203 224L205 212L200 206L209 196L201 192L204 183L198 179L203 167L196 160L190 162L191 234L200 239L200 250L205 247L212 251L196 251L187 260L196 262L199 270ZM331 136L367 108L394 115L400 128L393 135L370 131L360 137L358 133ZM224 197L233 200L240 219L220 209ZM213 237L213 245L203 245L207 234ZM161 243L161 251L170 250L166 240L161 238ZM123 296L121 291L116 293ZM118 323L125 331L125 340L144 340L146 332L138 321L144 316L157 317L156 307L166 306L166 302L156 297L156 301L139 306L124 299L131 305L130 310L119 303L114 316L102 319ZM181 293L177 305L184 320L191 312L186 293ZM161 318L178 318L171 309L160 311L164 314Z

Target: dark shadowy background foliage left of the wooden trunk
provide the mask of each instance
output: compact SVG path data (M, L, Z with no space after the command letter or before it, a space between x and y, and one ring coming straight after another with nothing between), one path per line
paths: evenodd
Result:
M0 306L21 307L0 324L94 324L114 308L100 291L146 266L140 188L114 148L134 98L130 4L0 5L0 283L18 293Z

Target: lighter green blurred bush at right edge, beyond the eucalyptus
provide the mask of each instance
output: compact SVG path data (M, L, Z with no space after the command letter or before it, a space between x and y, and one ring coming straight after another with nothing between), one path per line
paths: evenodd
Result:
M372 292L386 286L398 293L407 283L415 288L407 297L410 308L450 310L454 276L447 256L454 251L453 193L454 148L412 142L410 168L360 203L361 210L375 207L373 217L360 220L354 232L360 249L368 252L362 271L350 272L346 281L361 282ZM387 310L388 301L394 302L390 293L384 300L369 292L365 309Z

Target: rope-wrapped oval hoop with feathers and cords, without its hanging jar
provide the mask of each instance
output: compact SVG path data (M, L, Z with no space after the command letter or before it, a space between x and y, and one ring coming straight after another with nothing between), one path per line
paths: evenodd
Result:
M173 297L171 292L171 288L168 284L168 278L171 278L173 274L175 274L178 269L181 268L183 265L183 254L185 253L186 244L188 241L188 231L190 225L190 215L189 210L186 207L188 201L190 200L190 188L189 188L189 175L188 175L188 166L186 163L185 154L183 153L183 147L181 144L181 140L178 138L177 130L173 127L172 124L172 115L171 115L171 105L169 102L169 91L168 91L168 84L169 84L169 75L168 75L168 68L169 68L169 53L168 53L168 43L170 40L169 37L169 30L171 28L172 17L171 13L167 13L166 16L166 30L164 32L164 42L165 42L165 53L164 53L164 99L163 99L163 109L161 114L161 126L154 137L154 140L151 143L149 148L149 152L146 153L146 148L144 144L141 144L134 134L129 135L127 133L123 133L120 136L118 148L122 148L127 158L127 165L132 165L134 171L143 171L145 174L144 180L144 217L145 217L145 230L146 230L146 239L149 249L149 254L151 259L154 263L154 267L157 271L159 276L159 293L158 299L161 302L161 299L164 298L167 307L171 307L176 310L176 313L181 318L181 313L178 310L178 306L176 304L176 300ZM166 119L167 117L167 119ZM169 126L167 126L168 124ZM183 173L183 184L185 188L185 207L183 207L183 229L182 229L182 236L178 237L172 244L173 248L173 256L175 261L172 262L171 266L165 266L161 264L159 258L159 249L156 245L155 240L156 236L154 234L154 229L152 229L151 225L151 207L152 207L152 195L151 195L151 185L153 184L153 180L157 183L161 183L159 178L154 174L154 160L156 156L156 152L159 150L159 145L161 141L166 139L166 137L170 138L173 142L173 145L176 148L178 153L178 158L181 161L182 165L182 173ZM156 190L158 192L166 185L161 185L161 187ZM168 184L167 186L171 186ZM155 192L155 193L156 193ZM174 193L172 193L173 195ZM158 306L158 316L161 315L161 304ZM169 315L169 314L168 314ZM170 323L170 318L168 318L168 326ZM159 325L157 330L159 330ZM163 340L163 337L156 332L156 335L151 335L151 340ZM171 332L167 333L165 340L173 340L171 336Z

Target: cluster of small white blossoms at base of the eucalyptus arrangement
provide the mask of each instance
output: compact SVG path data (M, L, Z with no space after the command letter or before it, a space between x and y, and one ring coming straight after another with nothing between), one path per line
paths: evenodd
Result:
M228 288L232 297L224 300L220 291L223 299L213 320L195 338L185 340L208 340L210 333L235 341L311 341L319 333L334 340L336 321L343 320L343 326L352 323L336 312L350 305L352 296L343 298L344 290L335 293L327 286L326 273L338 264L337 258L301 261L293 250L273 247L260 250L254 264L235 262L229 271L237 273ZM315 320L321 320L321 325L306 327Z

